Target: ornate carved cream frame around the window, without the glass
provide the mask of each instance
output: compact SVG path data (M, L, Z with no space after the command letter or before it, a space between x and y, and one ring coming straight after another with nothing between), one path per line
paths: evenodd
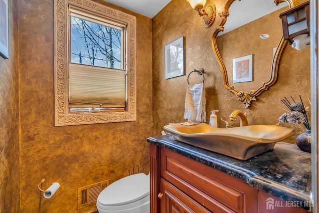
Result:
M127 107L125 112L70 113L68 106L68 7L127 23ZM54 1L55 126L136 121L136 17L91 0Z

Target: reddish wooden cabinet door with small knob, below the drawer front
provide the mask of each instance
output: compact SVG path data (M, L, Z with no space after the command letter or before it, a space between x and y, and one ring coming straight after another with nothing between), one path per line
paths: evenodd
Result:
M164 179L160 179L160 192L161 213L211 213Z

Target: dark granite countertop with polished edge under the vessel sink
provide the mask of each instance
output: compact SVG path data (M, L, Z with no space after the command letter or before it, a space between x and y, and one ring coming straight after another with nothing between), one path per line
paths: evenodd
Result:
M150 137L147 141L227 173L285 201L311 201L311 154L294 144L278 142L273 151L240 161L175 141L170 135Z

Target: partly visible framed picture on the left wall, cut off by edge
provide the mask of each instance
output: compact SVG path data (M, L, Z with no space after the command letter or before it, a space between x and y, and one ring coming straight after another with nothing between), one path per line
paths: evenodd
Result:
M9 58L8 0L0 0L0 55Z

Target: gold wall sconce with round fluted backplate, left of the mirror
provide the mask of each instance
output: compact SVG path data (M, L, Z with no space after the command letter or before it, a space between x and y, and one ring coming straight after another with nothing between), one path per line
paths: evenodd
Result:
M197 10L199 16L203 16L203 24L205 27L210 27L216 16L216 6L213 3L207 4L204 9L204 5L206 4L206 0L187 0L188 3L193 7L193 9Z

